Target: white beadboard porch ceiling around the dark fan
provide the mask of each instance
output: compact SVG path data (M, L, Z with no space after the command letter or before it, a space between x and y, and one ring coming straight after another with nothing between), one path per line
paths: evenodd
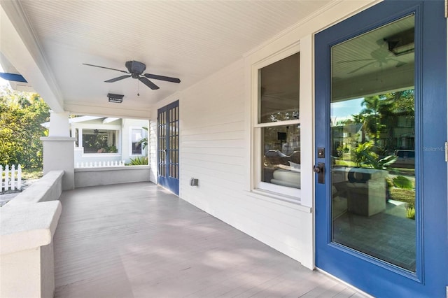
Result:
M40 52L39 69L62 107L104 108L105 115L120 114L118 105L121 111L149 111L152 104L241 59L329 2L0 0L31 55ZM24 27L31 34L24 34ZM39 91L36 69L11 50L3 51L11 41L3 33L1 52ZM159 90L132 78L104 83L123 73L83 65L126 70L127 60L144 62L146 73L173 76L181 83L152 80ZM124 94L123 104L109 103L108 93Z

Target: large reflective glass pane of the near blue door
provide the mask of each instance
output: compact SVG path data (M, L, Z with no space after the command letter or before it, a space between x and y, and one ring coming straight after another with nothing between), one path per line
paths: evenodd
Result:
M415 272L414 15L331 55L332 241Z

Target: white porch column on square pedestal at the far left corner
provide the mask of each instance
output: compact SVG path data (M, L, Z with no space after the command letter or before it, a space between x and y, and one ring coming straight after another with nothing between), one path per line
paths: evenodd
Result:
M69 113L50 111L50 130L43 141L43 174L52 170L63 170L62 190L75 188L74 144L70 137Z

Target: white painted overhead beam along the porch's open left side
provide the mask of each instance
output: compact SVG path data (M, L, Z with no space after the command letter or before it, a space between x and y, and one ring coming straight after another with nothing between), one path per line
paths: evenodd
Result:
M0 1L0 52L56 113L64 112L61 92L18 1Z

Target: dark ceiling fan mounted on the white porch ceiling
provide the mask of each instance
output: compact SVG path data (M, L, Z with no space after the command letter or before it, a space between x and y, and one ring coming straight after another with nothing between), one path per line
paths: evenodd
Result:
M98 66L98 65L87 64L87 63L83 63L83 64L87 65L87 66L99 67L100 69L111 69L110 67ZM127 71L122 71L120 69L111 69L111 70L120 71L122 73L128 73L127 75L119 76L117 78L111 78L110 80L105 80L104 82L113 83L118 80L123 80L125 78L132 77L132 78L138 79L141 83L144 83L146 86L150 87L152 90L159 89L159 86L155 85L153 82L151 82L151 80L148 80L148 78L152 78L154 80L165 80L167 82L172 82L172 83L181 83L181 80L179 80L179 78L172 78L169 76L159 76L159 75L155 75L155 74L151 74L151 73L143 73L146 69L146 65L144 63L141 63L138 61L127 61L125 63L125 66L127 68Z

